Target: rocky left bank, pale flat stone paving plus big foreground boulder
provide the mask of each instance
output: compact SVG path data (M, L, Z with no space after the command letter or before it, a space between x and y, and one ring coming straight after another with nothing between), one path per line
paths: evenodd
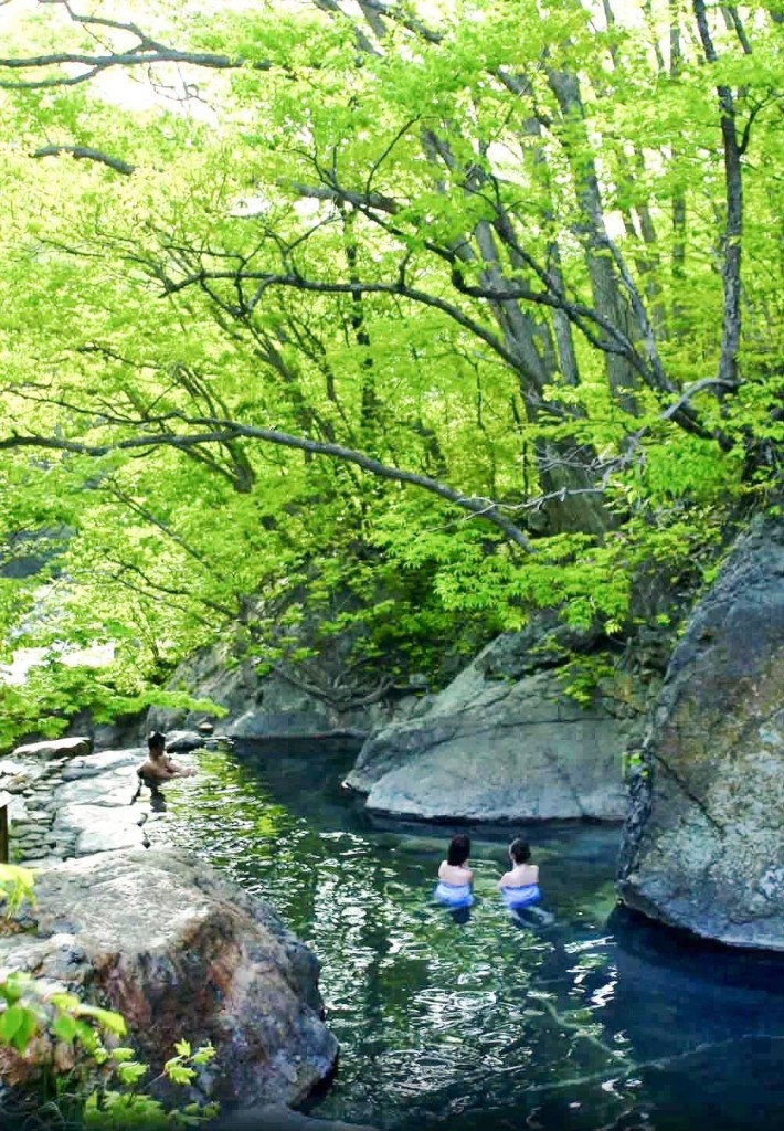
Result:
M0 761L11 862L36 873L35 905L0 934L0 967L120 1011L155 1070L173 1042L212 1042L188 1099L221 1103L216 1128L346 1128L288 1107L337 1061L312 952L264 900L162 847L165 817L147 789L137 796L144 749L88 751L89 740L64 739ZM6 1085L24 1087L31 1071L34 1060L0 1051Z

